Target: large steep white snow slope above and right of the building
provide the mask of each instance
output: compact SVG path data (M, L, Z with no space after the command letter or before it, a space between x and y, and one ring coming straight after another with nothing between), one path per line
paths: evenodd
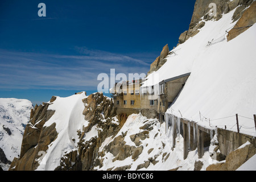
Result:
M218 21L205 21L200 32L172 50L177 55L169 55L167 63L148 76L143 86L191 72L179 98L167 113L177 117L181 117L181 113L183 118L207 127L210 119L210 126L224 128L226 125L228 130L234 131L237 131L235 115L238 114L240 132L256 136L253 121L253 114L256 114L256 25L227 42L225 31L236 24L232 23L235 10ZM220 42L207 46L218 38ZM225 40L221 41L223 38ZM159 80L154 80L154 75L158 75Z

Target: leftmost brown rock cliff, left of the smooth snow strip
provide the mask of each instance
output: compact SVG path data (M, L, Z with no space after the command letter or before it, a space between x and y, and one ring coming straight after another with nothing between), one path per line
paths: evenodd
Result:
M55 97L52 97L53 102ZM43 103L31 109L30 122L27 124L23 134L20 156L14 158L10 169L17 171L32 171L38 167L36 160L39 158L39 151L47 151L48 145L56 139L57 132L55 125L44 127L55 111L48 110L52 103ZM14 168L15 167L15 168Z

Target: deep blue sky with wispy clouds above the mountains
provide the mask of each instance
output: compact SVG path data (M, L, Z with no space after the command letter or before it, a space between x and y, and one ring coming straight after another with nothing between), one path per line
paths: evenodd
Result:
M46 17L38 4L46 4ZM195 0L0 1L0 97L33 104L97 91L100 73L147 73L188 29Z

